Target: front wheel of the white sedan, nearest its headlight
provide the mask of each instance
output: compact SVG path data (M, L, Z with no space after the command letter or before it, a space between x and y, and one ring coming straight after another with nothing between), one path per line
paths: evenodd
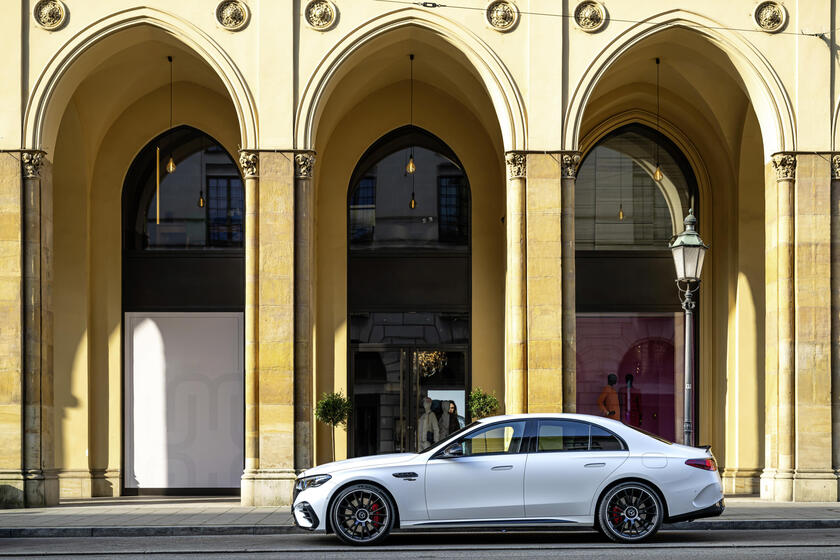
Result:
M394 527L396 508L388 493L372 484L353 484L336 494L330 524L342 541L352 545L379 544Z

